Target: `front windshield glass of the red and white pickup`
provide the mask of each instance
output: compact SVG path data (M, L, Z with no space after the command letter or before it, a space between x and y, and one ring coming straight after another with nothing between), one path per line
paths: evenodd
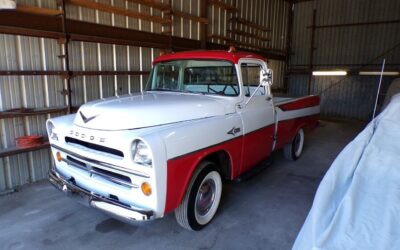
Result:
M235 66L228 61L177 60L157 63L146 91L175 91L238 96Z

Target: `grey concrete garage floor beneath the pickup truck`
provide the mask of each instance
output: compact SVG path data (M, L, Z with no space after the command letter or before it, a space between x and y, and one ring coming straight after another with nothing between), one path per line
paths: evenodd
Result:
M62 195L46 181L0 197L1 249L290 249L318 184L361 123L321 122L296 162L274 162L240 183L227 183L213 222L182 229L174 214L130 226Z

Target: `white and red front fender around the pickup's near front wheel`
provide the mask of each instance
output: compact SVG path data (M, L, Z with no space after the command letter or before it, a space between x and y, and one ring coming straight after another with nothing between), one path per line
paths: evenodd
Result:
M240 117L232 114L188 122L164 133L168 157L165 213L179 206L194 170L208 155L225 151L230 157L230 172L235 175L235 170L239 169L243 136L227 132L240 126L238 124L241 124Z

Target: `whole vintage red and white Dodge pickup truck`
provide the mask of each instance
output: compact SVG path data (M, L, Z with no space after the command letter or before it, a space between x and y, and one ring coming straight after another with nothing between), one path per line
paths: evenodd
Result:
M200 230L214 217L222 181L282 149L296 160L318 123L319 97L273 98L265 59L235 51L162 55L145 91L86 103L52 118L50 181L126 222L175 211Z

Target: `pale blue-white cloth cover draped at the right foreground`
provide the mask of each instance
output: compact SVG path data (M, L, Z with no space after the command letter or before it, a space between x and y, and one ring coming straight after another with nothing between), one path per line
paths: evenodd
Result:
M339 154L293 249L400 249L400 94Z

